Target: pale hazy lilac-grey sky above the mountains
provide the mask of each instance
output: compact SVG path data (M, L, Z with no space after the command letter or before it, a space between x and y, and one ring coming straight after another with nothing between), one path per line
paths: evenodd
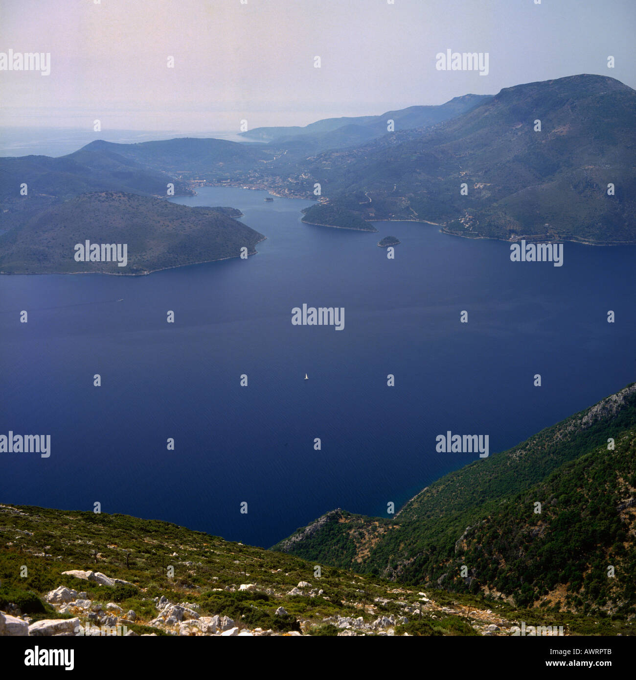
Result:
M636 88L635 29L636 0L1 0L0 52L51 73L0 71L0 125L238 131L575 73ZM436 70L447 49L489 74Z

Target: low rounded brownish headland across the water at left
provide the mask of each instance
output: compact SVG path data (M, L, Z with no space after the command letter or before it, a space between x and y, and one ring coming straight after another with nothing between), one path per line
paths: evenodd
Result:
M249 254L265 237L221 211L113 192L82 194L0 236L2 273L143 274ZM126 244L127 263L76 261L75 245Z

